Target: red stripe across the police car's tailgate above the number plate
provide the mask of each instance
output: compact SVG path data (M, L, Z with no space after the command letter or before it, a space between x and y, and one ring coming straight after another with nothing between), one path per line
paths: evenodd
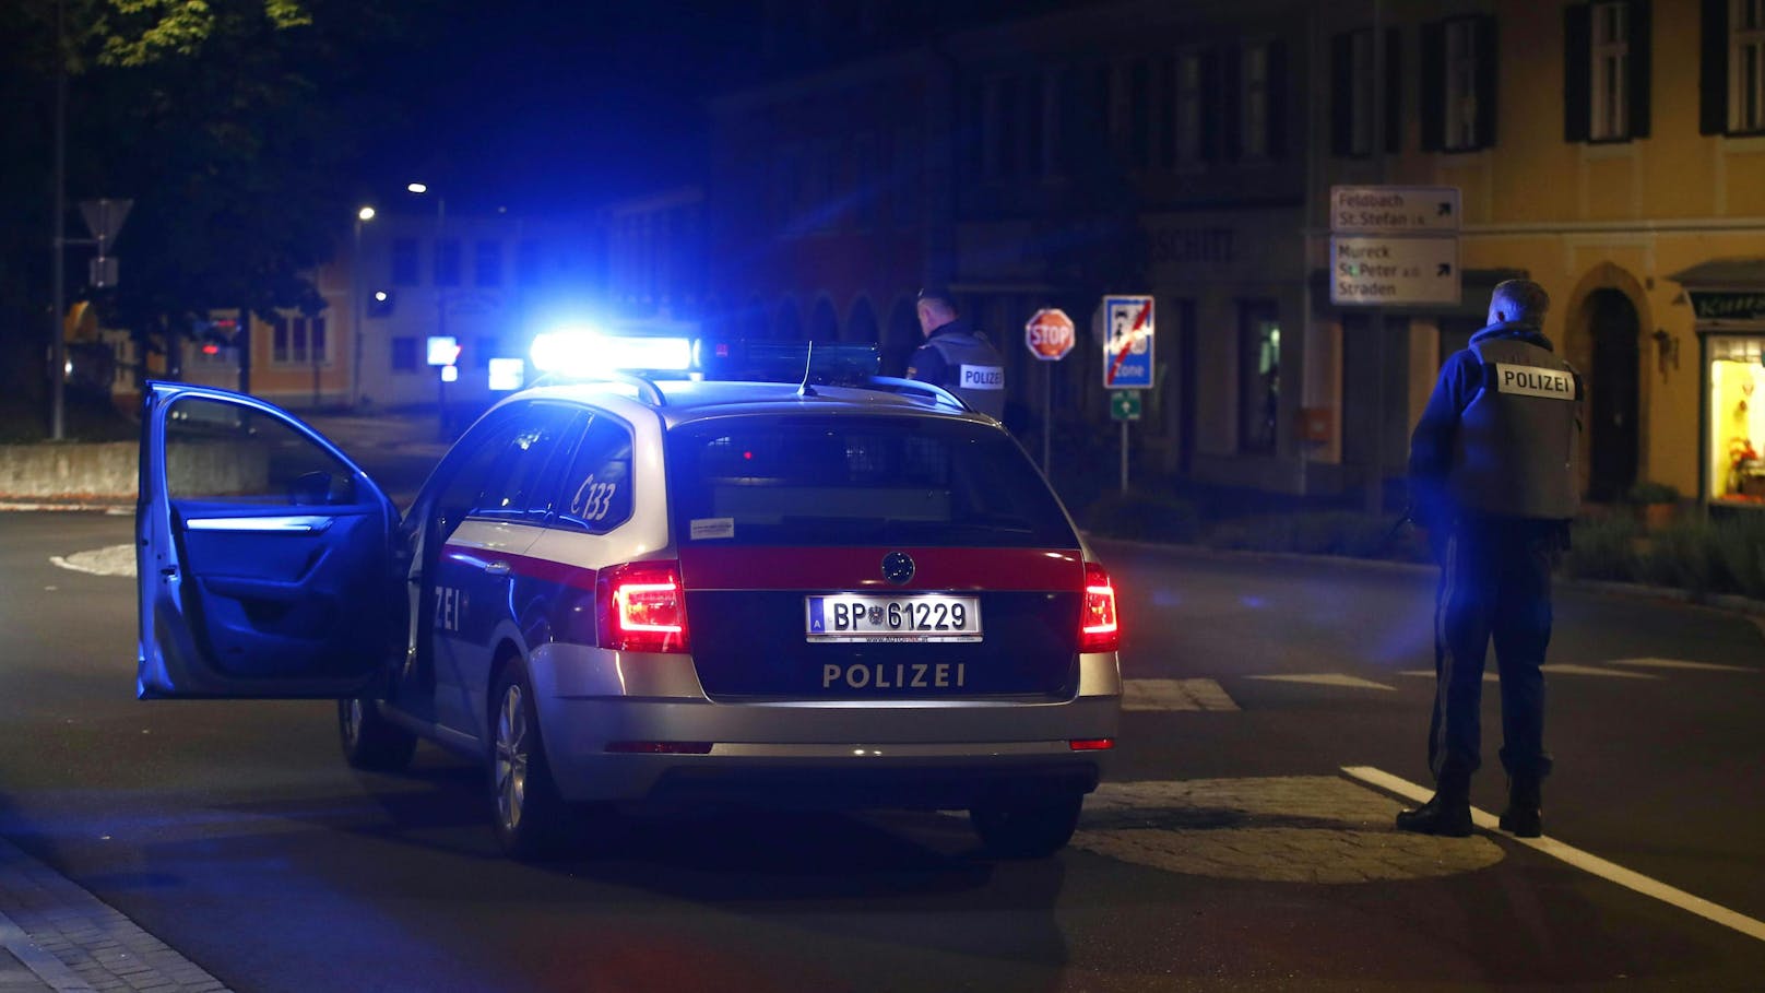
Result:
M913 580L882 578L882 557L913 557ZM687 548L688 590L1078 590L1078 550L1041 548Z

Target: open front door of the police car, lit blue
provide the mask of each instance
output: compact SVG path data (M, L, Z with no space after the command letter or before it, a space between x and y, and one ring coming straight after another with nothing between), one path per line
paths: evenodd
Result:
M143 700L383 691L399 514L335 445L251 396L146 383L139 486Z

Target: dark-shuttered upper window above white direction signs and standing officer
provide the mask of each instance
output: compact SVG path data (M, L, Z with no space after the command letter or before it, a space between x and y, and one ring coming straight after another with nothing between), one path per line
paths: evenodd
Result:
M1495 18L1423 25L1423 150L1495 145Z

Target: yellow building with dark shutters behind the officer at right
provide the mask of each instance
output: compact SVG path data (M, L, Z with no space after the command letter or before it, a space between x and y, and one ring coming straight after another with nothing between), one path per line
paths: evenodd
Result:
M1373 14L1329 9L1327 32ZM1765 507L1765 390L1753 399L1765 385L1765 0L1389 2L1382 14L1412 81L1387 90L1403 131L1382 163L1320 155L1320 184L1458 187L1461 311L1481 311L1497 276L1550 292L1544 332L1587 385L1588 496L1656 481ZM1313 221L1310 258L1327 265L1327 217ZM1341 352L1352 311L1311 325L1313 357ZM1414 424L1465 318L1401 318L1407 410L1391 421ZM1318 371L1331 366L1310 369L1308 406L1340 408L1364 387L1352 369L1340 382ZM1387 472L1400 454L1387 445ZM1340 438L1313 458L1340 459Z

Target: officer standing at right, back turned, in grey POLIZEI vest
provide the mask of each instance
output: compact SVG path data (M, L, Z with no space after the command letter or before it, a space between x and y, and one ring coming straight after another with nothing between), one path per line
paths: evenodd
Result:
M1481 763L1483 666L1490 641L1502 687L1502 830L1537 838L1544 751L1550 571L1580 505L1581 380L1539 330L1550 297L1509 279L1490 325L1447 359L1410 436L1410 512L1440 560L1435 703L1428 769L1435 795L1398 815L1421 834L1470 834L1470 776Z

